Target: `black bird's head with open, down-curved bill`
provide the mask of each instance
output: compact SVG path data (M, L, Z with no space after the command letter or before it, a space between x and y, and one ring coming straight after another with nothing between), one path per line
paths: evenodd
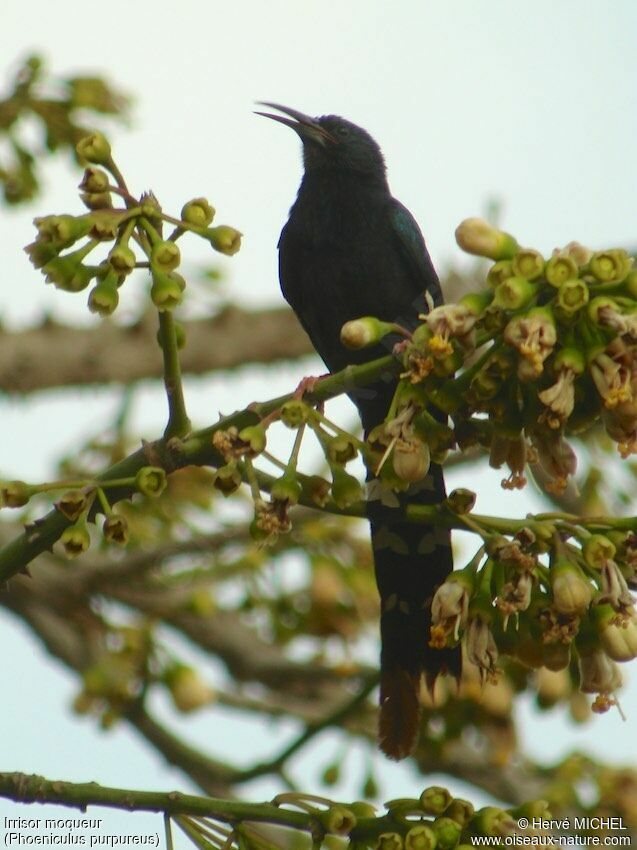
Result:
M296 109L278 103L261 102L261 106L276 109L283 115L258 112L280 124L291 127L303 142L305 170L329 169L366 175L385 173L380 148L362 127L338 115L311 118Z

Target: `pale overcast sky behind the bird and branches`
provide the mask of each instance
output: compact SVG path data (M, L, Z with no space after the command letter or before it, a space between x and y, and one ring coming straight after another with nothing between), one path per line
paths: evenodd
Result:
M105 74L134 95L131 128L111 134L131 188L152 187L175 212L205 195L219 222L243 231L242 251L223 265L228 294L246 306L281 303L276 243L301 171L296 136L253 115L260 99L340 114L368 129L383 148L394 194L419 220L439 268L461 261L454 229L491 198L502 203L506 229L542 251L571 239L591 247L637 244L633 0L4 0L1 14L3 76L14 60L37 51L56 73ZM34 215L80 210L77 175L64 159L43 173L44 197L0 220L0 313L14 326L44 310L94 321L84 296L45 288L17 247L32 240ZM210 261L205 246L191 246L193 265ZM300 370L269 370L267 394L294 386ZM197 424L210 421L211 398L214 415L220 406L262 397L263 378L189 382ZM151 438L162 399L153 388L142 398L136 421ZM50 394L8 402L0 470L44 477L56 452L70 445L69 412L84 416L88 429L114 404L112 394L93 391L79 404ZM487 474L482 482L491 512L523 514L539 504L527 493L505 496L500 478ZM71 718L70 679L8 615L0 619L0 640L12 646L0 661L2 680L13 683L3 698L5 769L183 787L127 732L98 735ZM634 688L631 694L625 724L611 713L571 730L557 716L543 717L525 727L529 739L547 757L577 746L626 758L626 741L634 747L636 740ZM206 723L193 723L193 739ZM226 729L217 721L203 732L211 753L223 754ZM385 775L390 796L414 790L413 777L394 768ZM15 817L16 809L0 803L5 813Z

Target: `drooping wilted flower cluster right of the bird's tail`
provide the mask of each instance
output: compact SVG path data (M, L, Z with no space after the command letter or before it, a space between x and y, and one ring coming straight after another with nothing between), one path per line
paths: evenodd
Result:
M471 563L432 602L430 645L463 642L483 681L509 655L536 670L567 671L593 710L616 704L617 662L637 657L637 538L529 521L515 537L484 535Z

